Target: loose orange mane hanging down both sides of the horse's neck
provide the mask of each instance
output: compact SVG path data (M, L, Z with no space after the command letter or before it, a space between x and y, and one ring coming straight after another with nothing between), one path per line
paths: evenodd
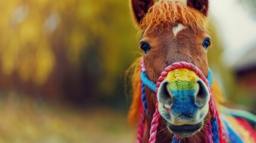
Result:
M128 113L128 123L134 128L138 125L138 119L140 116L141 105L141 80L140 80L140 61L142 57L137 58L134 63L129 67L127 73L131 73L131 85L132 85L132 103L129 108ZM223 93L220 86L214 79L211 87L212 94L214 96L214 101L217 106L218 111L220 111L220 104L225 102Z

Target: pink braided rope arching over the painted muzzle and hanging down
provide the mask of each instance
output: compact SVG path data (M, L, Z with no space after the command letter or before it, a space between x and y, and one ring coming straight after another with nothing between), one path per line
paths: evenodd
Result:
M141 61L141 67L144 67L144 61ZM215 103L212 97L211 93L211 88L209 87L208 80L206 77L203 75L202 71L198 69L198 67L194 66L193 64L189 64L186 62L178 62L178 63L173 63L170 66L166 67L164 71L162 71L161 76L158 79L158 82L156 83L156 94L158 94L158 88L161 85L162 81L165 79L167 76L168 72L174 69L178 68L186 68L189 70L194 71L202 80L205 82L206 86L208 87L208 90L210 91L210 101L209 101L209 110L211 113L211 118L215 119L216 111L215 111ZM156 95L156 98L158 96ZM153 119L151 122L151 128L150 128L150 138L149 138L149 143L155 143L156 141L156 133L158 131L158 125L159 125L159 119L161 115L158 110L158 100L156 101L156 106L155 106L155 113L153 114Z

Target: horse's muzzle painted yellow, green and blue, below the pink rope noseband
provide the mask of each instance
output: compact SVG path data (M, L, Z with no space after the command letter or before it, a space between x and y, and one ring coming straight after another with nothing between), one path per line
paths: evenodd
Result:
M202 128L209 98L208 87L194 71L173 69L158 89L159 113L172 133L189 137Z

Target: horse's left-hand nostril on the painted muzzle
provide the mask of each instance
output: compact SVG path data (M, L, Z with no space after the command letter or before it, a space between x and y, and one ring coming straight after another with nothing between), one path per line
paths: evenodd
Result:
M172 92L168 82L163 82L158 89L158 101L166 108L172 104ZM166 108L166 110L168 110Z

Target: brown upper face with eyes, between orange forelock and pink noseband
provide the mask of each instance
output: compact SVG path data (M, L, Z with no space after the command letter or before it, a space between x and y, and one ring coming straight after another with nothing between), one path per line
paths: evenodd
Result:
M183 27L183 28L180 28ZM209 43L206 47L205 41ZM207 49L211 46L208 32L194 33L191 27L177 24L161 33L141 36L140 48L144 52L147 73L154 73L154 82L165 67L179 61L186 61L198 67L208 76Z

